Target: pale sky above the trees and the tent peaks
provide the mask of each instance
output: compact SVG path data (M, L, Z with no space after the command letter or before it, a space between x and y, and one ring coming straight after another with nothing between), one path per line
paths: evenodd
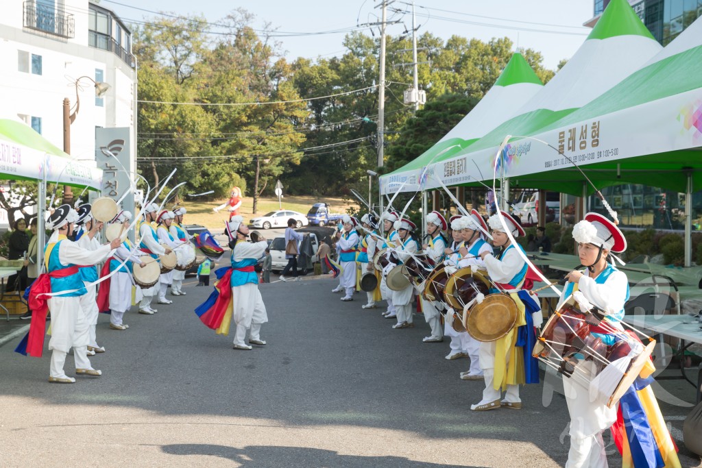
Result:
M402 20L388 25L388 34L397 36L411 29L411 3L395 0L388 7L388 19ZM100 5L125 22L152 19L156 14L150 11L202 15L208 22L218 22L235 8L244 8L256 16L253 27L261 28L268 22L281 33L307 33L277 38L289 60L343 54L345 32L308 33L347 31L380 20L380 0L100 0ZM392 13L390 8L409 13ZM582 25L592 18L592 10L592 0L415 0L417 34L430 32L444 40L458 35L482 41L507 36L515 46L541 52L543 65L554 70L585 41L590 29ZM365 32L369 34L368 29Z

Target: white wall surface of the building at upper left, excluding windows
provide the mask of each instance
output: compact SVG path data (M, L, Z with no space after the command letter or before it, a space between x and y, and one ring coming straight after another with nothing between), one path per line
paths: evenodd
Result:
M88 46L88 1L58 0L57 8L72 14L73 39L23 27L24 2L0 2L0 118L21 120L21 116L41 117L41 134L57 147L63 147L62 102L76 103L72 83L81 76L95 79L95 69L104 73L110 90L102 107L95 105L95 88L88 79L80 81L80 108L70 126L71 155L78 159L95 156L95 127L128 126L133 135L133 91L136 74L112 51ZM113 22L114 27L114 22ZM29 54L29 72L18 69L18 51ZM31 57L41 55L41 75L32 74ZM135 145L133 145L135 146ZM135 157L135 147L132 151Z

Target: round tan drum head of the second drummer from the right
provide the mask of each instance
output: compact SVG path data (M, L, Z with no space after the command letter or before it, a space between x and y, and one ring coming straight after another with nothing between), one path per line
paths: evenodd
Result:
M478 341L499 340L517 321L517 303L507 294L487 295L468 316L468 333Z

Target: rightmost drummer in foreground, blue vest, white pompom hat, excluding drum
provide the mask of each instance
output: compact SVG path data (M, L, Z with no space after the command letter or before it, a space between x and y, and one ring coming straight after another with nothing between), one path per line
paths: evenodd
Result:
M629 298L628 279L614 267L614 260L610 260L611 253L626 250L624 235L604 216L588 213L574 226L573 239L578 242L578 256L586 268L567 275L568 282L558 308L571 295L583 311L596 307L604 315L604 320L599 325L590 325L590 336L599 338L607 347L621 340L627 340L635 347L640 341L634 333L625 332L621 325L624 304ZM578 354L571 359L576 362L574 370L571 375L563 375L563 389L571 417L571 446L565 466L606 468L607 453L602 433L615 424L618 409L617 406L609 408L606 401L597 398L597 392L592 392L589 382L597 375L595 361L582 359ZM650 366L648 373L653 372L654 368ZM623 433L621 438L628 441L620 447L623 466L680 467L675 444L665 427L651 382L648 377L638 378L619 401L620 424L611 429L615 440L618 433Z

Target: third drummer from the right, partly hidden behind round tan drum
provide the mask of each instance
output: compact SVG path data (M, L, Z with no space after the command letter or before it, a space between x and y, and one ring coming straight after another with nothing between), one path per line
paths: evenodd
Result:
M485 220L475 209L471 211L470 216L464 216L461 220L463 223L461 231L463 247L458 249L458 253L461 255L458 267L484 270L486 269L485 262L480 258L480 255L483 252L493 253L492 246L485 241L488 232ZM470 369L461 373L461 379L483 380L483 371L480 368L480 342L470 336L468 332L461 333L461 335L461 340L463 340L463 345L468 350L470 358Z

